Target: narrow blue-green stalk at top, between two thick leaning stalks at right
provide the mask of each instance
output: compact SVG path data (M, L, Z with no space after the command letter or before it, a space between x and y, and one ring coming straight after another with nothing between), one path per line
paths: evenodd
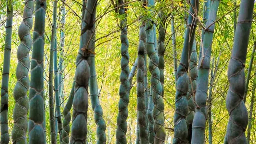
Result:
M209 10L210 10L210 6L211 6L211 0L205 0L204 1L204 9L203 9L203 22L204 24L206 24L207 22L207 19L208 19L208 16L209 16ZM201 58L201 55L202 55L202 45L204 43L204 29L202 29L202 34L201 34L201 40L200 40L200 49L199 49L199 60Z

